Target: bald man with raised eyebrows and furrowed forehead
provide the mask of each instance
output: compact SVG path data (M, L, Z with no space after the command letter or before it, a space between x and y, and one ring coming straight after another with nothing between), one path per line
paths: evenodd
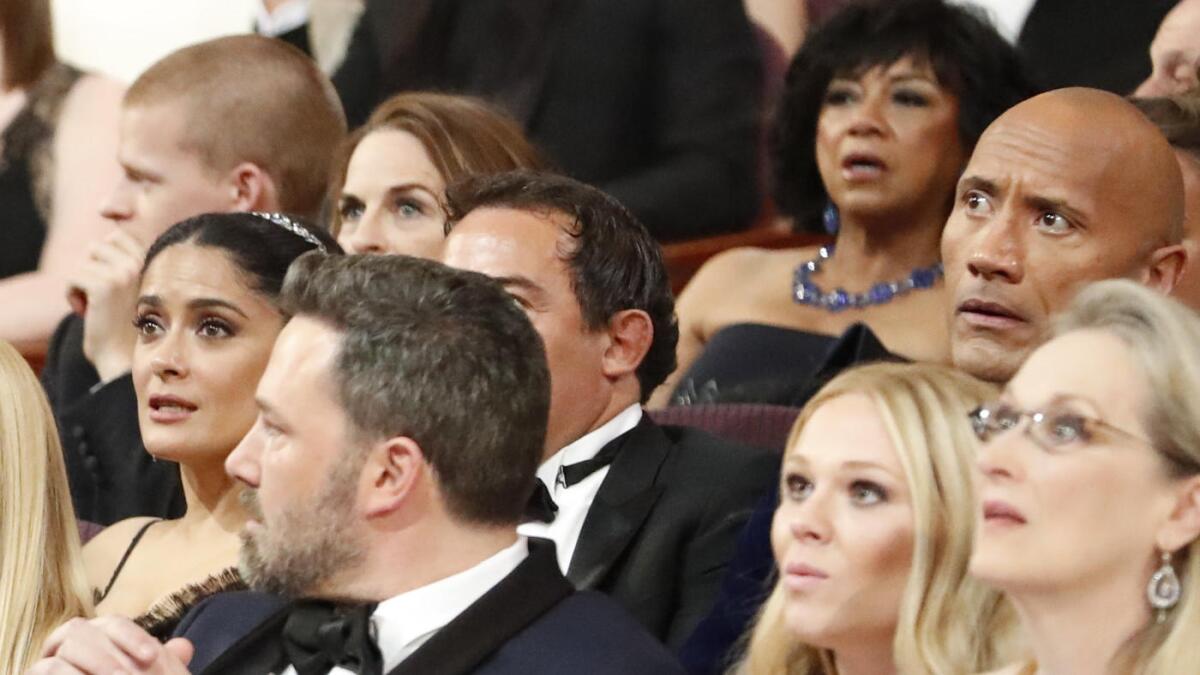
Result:
M1060 89L979 138L942 234L954 364L1007 382L1091 281L1170 292L1187 259L1183 179L1128 101Z

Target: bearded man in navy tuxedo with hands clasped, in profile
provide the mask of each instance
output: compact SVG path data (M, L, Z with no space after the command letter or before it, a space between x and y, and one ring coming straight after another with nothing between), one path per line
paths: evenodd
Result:
M576 592L552 543L515 530L550 376L498 283L401 256L314 255L282 301L294 318L226 470L252 514L247 581L304 599L214 596L166 646L124 620L77 620L35 674L187 661L222 675L680 671L612 601Z

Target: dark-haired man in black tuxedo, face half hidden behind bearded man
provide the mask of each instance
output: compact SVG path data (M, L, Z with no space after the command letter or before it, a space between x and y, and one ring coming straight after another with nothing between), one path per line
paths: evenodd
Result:
M674 369L678 327L661 250L616 199L514 172L451 186L448 203L446 264L502 281L546 344L540 502L520 531L553 539L576 586L678 646L778 458L642 411Z

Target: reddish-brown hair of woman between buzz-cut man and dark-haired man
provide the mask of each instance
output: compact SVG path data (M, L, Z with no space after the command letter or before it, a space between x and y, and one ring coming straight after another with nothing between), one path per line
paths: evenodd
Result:
M354 149L367 135L385 130L412 133L446 185L473 174L548 168L516 120L491 103L470 96L408 91L380 103L342 144L331 183L332 203L342 203ZM341 227L338 208L330 227L335 237Z

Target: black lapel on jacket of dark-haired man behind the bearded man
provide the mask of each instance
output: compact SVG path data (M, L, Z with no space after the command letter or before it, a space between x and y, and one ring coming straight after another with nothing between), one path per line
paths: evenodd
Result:
M596 587L629 548L662 494L659 471L670 440L649 416L614 438L622 449L583 519L566 578L577 589Z

